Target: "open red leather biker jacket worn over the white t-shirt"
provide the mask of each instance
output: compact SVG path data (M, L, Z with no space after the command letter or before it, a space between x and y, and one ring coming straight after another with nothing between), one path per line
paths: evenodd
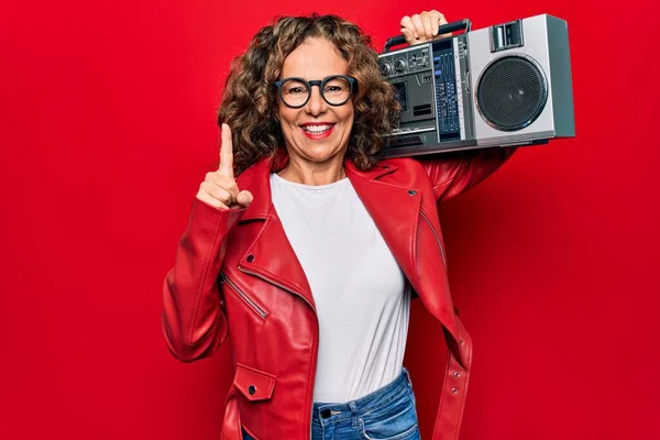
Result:
M472 344L454 314L436 204L493 173L513 150L462 158L385 160L369 172L344 163L348 177L449 346L433 439L457 439ZM176 264L164 283L163 330L184 361L211 355L229 336L235 376L222 439L309 439L318 353L314 296L271 200L279 158L243 172L239 188L254 201L218 210L195 200Z

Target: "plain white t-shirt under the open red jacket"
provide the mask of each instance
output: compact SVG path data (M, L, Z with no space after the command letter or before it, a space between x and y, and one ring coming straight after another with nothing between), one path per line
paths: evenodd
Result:
M275 210L319 319L315 402L344 403L400 374L410 290L348 178L309 186L271 175Z

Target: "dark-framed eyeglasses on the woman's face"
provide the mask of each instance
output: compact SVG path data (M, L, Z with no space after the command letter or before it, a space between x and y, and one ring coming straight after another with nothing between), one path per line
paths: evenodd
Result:
M330 106L343 106L358 92L358 79L346 75L332 75L324 79L307 81L302 78L284 78L273 82L279 98L292 109L304 107L311 96L311 88L318 86L321 97Z

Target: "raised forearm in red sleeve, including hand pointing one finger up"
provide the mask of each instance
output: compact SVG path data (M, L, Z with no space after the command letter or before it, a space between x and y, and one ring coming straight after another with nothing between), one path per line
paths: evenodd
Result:
M199 186L176 263L163 286L163 333L180 361L209 356L227 339L217 278L229 232L251 202L252 194L240 191L234 179L231 130L222 124L220 166Z

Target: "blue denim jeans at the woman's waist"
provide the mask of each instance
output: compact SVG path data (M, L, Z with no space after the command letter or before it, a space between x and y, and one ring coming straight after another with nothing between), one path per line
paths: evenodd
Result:
M358 400L314 404L311 440L375 439L420 440L415 395L406 369L388 385ZM254 439L243 431L243 440Z

